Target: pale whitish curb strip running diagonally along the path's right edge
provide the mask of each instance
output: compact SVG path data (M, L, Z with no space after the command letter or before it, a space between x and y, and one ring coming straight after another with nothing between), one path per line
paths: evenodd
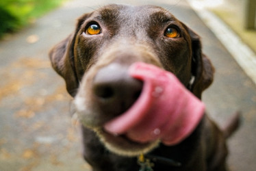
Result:
M196 14L211 29L215 36L231 53L235 61L256 84L256 54L226 23L205 8L205 3L199 0L187 0ZM218 26L218 27L216 27Z

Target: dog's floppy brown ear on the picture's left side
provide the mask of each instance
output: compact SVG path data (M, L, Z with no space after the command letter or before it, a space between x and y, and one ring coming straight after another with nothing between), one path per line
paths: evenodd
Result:
M55 45L49 52L51 65L54 70L64 78L66 81L66 90L71 96L77 94L77 88L79 81L74 64L74 46L76 35L84 23L85 18L88 14L84 14L78 19L75 34L68 36L65 40L62 40L59 44Z

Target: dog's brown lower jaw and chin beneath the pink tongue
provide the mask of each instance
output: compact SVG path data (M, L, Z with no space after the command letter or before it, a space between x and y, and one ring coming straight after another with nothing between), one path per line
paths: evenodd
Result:
M129 140L125 135L112 135L100 128L94 129L94 131L104 146L112 153L116 153L116 155L136 157L149 153L159 145L159 140L142 144Z

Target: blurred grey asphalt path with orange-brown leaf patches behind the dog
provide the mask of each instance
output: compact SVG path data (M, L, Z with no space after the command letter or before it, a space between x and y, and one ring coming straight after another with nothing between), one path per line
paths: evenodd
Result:
M74 0L0 42L0 170L90 170L81 157L79 127L71 124L64 81L48 60L51 47L75 29L75 18L107 3ZM209 115L223 125L242 111L228 141L233 171L256 168L256 86L186 1L122 1L167 8L201 35L216 75L203 94ZM218 26L216 26L218 27Z

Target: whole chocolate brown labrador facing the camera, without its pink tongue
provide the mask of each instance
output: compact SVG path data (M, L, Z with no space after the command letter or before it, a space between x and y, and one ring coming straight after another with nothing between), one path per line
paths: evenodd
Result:
M237 128L238 116L219 129L204 115L188 137L172 145L137 142L104 129L142 92L143 81L127 71L136 62L172 73L199 99L212 83L214 68L201 52L199 36L167 10L153 5L104 6L81 16L75 32L49 56L75 99L84 159L92 170L228 170L225 140Z

